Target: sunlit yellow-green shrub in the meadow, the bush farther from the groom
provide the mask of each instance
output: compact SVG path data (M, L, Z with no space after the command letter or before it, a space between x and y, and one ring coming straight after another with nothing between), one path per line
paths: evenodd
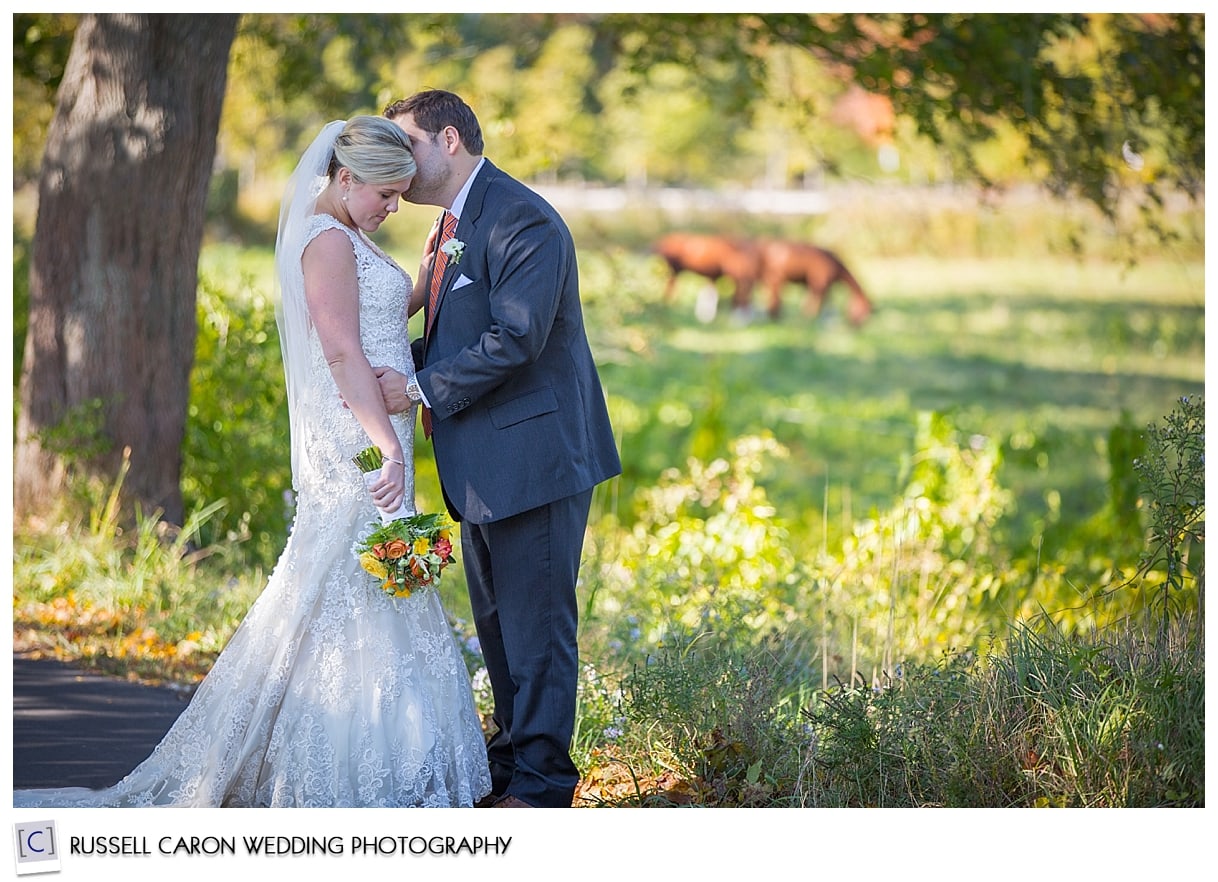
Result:
M851 646L862 624L868 679L896 660L970 646L1024 604L1018 574L994 541L1010 504L998 478L1000 445L960 435L951 417L920 414L900 498L855 521L838 553L811 564L818 608L810 615L834 629L838 647Z

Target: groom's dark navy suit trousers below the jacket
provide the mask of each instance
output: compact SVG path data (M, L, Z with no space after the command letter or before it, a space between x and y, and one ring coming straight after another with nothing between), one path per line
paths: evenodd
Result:
M474 624L495 696L492 791L570 806L575 729L575 596L592 491L488 524L462 521Z

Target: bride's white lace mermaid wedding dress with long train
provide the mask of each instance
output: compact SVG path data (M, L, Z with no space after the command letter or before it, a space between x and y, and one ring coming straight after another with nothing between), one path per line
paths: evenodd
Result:
M369 361L413 375L409 278L329 216L309 219L304 241L330 228L352 240ZM15 805L448 806L490 792L469 675L435 591L392 599L352 553L378 520L351 462L369 441L313 333L308 347L296 520L262 594L130 775L102 791L18 791ZM392 419L410 462L414 412Z

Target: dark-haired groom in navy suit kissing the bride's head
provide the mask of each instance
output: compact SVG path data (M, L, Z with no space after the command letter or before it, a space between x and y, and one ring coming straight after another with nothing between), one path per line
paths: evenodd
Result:
M414 149L404 197L447 210L452 231L437 235L417 383L378 369L381 392L391 413L423 402L445 504L460 521L495 697L495 806L569 806L580 553L592 489L621 471L575 245L541 196L482 157L460 97L421 91L385 116Z

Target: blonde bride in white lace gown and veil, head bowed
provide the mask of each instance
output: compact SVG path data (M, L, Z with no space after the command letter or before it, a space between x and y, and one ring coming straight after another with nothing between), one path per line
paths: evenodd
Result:
M18 791L16 806L464 806L490 792L435 590L392 598L352 553L376 507L414 512L414 411L386 413L370 365L413 376L406 320L423 297L365 235L414 173L380 117L333 122L306 150L275 244L297 493L284 552L144 763L102 791ZM369 445L385 468L365 487L351 458Z

